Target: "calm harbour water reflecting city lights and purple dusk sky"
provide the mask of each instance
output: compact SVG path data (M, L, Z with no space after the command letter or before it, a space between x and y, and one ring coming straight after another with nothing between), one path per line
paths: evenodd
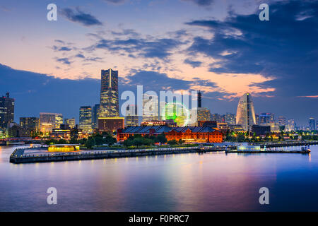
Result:
M207 153L13 165L0 146L1 211L318 210L311 155ZM259 188L268 187L267 206ZM47 188L57 188L57 205Z

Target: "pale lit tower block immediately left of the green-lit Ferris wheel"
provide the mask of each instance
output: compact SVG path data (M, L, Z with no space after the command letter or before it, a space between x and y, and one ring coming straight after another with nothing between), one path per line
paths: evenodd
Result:
M158 121L158 96L143 94L143 121Z

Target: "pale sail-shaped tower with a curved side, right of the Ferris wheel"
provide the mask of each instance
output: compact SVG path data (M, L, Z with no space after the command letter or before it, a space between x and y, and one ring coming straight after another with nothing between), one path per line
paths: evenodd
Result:
M240 124L245 131L248 131L255 123L255 111L252 96L250 93L245 93L245 95L240 98L239 104L237 105L236 124Z

